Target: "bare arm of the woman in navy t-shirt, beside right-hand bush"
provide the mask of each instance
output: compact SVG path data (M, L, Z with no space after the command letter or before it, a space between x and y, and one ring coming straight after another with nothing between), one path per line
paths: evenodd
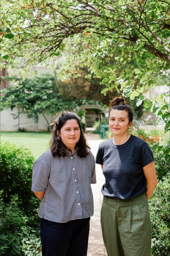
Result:
M147 188L146 196L149 200L158 183L156 170L155 170L155 163L152 162L150 164L147 164L146 166L143 167L143 171L144 171L144 176L146 178L146 188Z

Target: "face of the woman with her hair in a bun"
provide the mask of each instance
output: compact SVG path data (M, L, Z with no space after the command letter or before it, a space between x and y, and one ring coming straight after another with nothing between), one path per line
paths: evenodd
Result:
M109 128L113 135L121 136L128 133L128 128L131 125L132 122L129 122L127 111L117 109L110 111Z

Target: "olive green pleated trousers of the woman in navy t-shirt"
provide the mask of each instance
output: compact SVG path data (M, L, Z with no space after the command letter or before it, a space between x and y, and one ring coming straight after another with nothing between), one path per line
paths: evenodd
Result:
M101 228L108 256L151 256L151 219L146 194L103 197Z

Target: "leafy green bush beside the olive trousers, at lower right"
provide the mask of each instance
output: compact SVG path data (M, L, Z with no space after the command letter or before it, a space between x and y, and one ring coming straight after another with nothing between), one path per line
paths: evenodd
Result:
M170 186L164 177L149 200L152 226L152 256L170 255Z

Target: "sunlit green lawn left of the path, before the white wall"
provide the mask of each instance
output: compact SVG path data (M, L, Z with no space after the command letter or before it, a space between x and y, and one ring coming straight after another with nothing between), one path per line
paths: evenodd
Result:
M35 159L48 149L51 134L48 132L1 132L1 141L25 146L30 149Z

